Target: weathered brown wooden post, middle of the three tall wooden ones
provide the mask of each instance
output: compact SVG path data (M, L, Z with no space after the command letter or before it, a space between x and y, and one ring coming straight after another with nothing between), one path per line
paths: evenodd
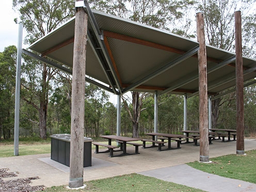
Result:
M203 13L197 13L197 41L199 42L199 132L200 162L209 162L208 106L207 106L207 60L204 37Z

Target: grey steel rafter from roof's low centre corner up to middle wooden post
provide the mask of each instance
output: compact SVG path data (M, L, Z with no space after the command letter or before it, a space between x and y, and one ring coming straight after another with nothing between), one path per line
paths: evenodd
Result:
M168 62L165 66L155 70L153 73L150 73L148 75L146 75L145 77L141 78L139 81L137 81L136 83L133 83L132 85L130 85L129 87L126 87L123 90L123 93L130 91L136 87L138 87L139 85L148 82L150 79L154 78L155 76L169 70L170 68L178 65L180 62L186 60L187 58L193 56L194 54L196 54L199 50L199 46L194 47L193 49L189 50L188 52L184 53L183 55L179 56L178 58L173 59L172 61Z

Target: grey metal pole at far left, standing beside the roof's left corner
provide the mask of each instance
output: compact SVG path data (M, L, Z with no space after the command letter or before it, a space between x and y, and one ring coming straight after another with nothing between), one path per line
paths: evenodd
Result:
M15 88L15 118L14 118L14 155L19 155L19 129L20 129L20 92L21 92L21 55L22 55L23 25L19 24L16 88Z

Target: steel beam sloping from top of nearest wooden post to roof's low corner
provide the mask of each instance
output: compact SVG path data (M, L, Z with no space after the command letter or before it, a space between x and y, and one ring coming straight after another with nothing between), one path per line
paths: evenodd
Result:
M97 21L95 20L94 18L94 15L89 7L89 4L87 2L87 0L84 0L84 1L76 1L75 2L75 7L83 7L84 10L86 11L87 15L88 15L88 21L90 22L91 26L92 26L92 29L93 29L93 33L95 34L95 37L100 45L100 48L101 48L101 51L107 61L107 64L108 64L108 67L111 71L111 74L113 75L114 79L115 79L115 82L116 82L116 85L119 89L119 93L122 93L122 87L120 85L120 82L118 81L118 77L117 77L117 74L115 72L115 69L114 69L114 66L113 66L113 63L111 62L111 59L109 57L109 54L107 52L107 49L106 49L106 46L105 46L105 43L104 43L104 36L103 34L101 33L101 30L97 24ZM113 89L115 89L115 87L113 87ZM116 93L116 94L119 94L119 93Z

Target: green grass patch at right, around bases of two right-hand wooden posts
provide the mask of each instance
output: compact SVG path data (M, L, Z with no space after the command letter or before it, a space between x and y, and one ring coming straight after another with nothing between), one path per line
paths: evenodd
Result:
M222 177L256 183L256 150L246 151L246 154L211 158L214 162L211 164L192 162L187 165Z

